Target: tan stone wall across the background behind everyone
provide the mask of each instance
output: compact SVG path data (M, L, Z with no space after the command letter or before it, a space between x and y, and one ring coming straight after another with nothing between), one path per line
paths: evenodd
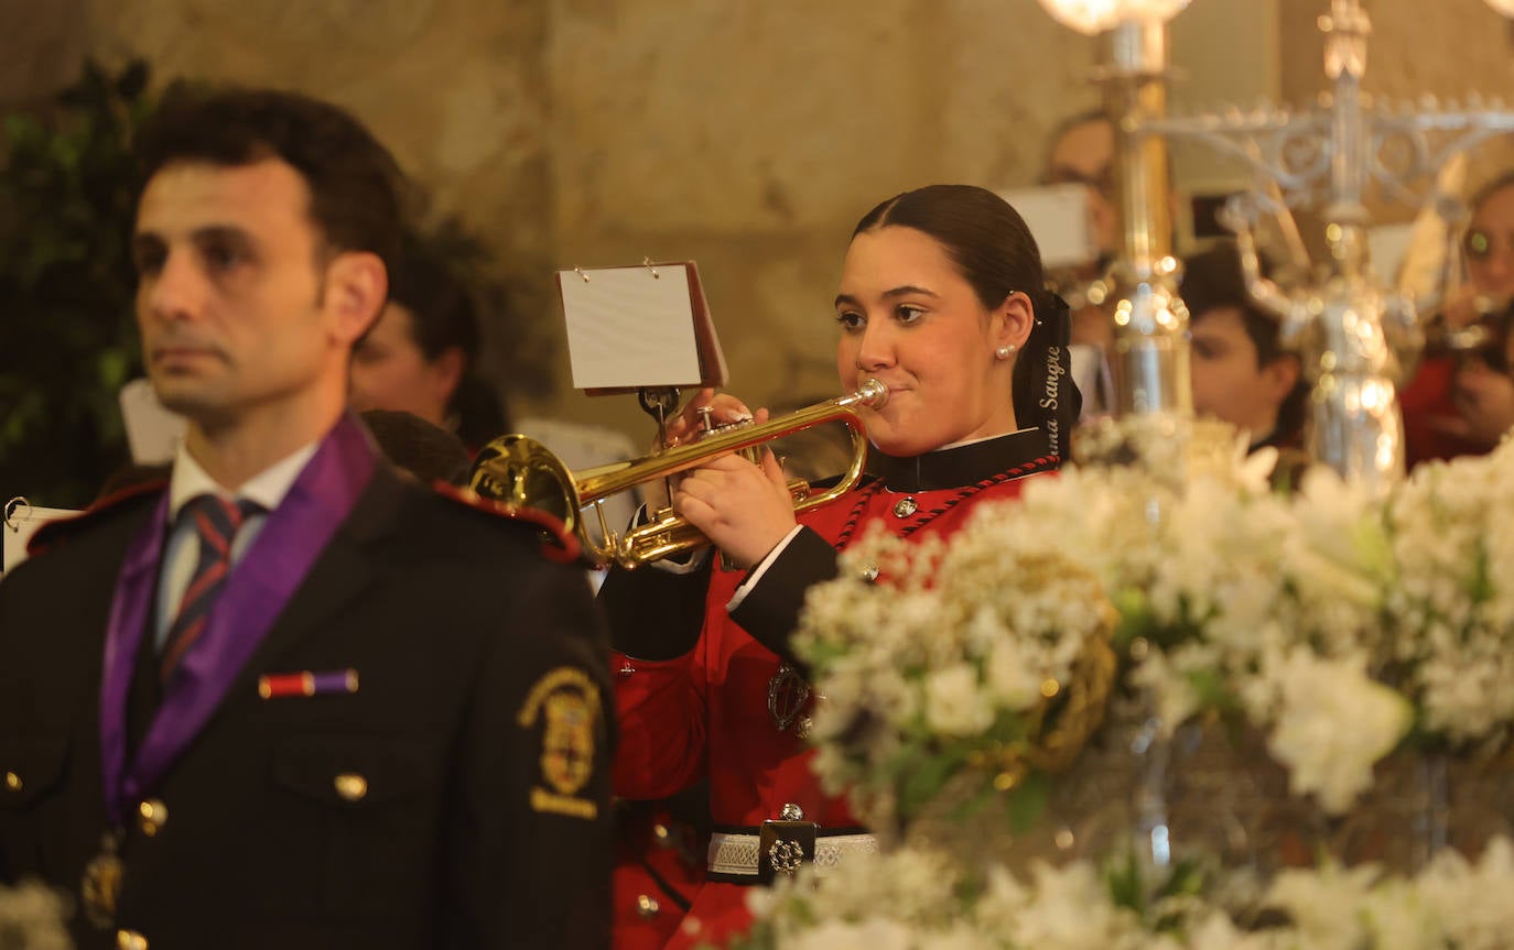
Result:
M1254 27L1234 26L1249 21L1208 9L1226 3L1275 20L1260 88L1313 100L1325 0L1196 0L1175 23L1175 59L1201 64L1178 98L1229 98L1226 65L1257 68ZM554 340L554 268L696 259L731 387L754 404L834 390L828 301L868 207L928 182L1030 183L1055 121L1096 100L1093 42L1036 0L0 0L12 8L27 29L5 41L0 100L92 48L351 107L438 210L498 247L522 318ZM1509 27L1482 0L1369 9L1369 89L1514 91ZM491 354L495 375L507 365ZM587 399L559 366L557 392L512 393L518 408L642 437L630 399Z

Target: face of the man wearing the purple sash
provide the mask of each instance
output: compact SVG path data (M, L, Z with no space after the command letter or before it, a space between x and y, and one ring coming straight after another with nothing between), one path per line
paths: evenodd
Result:
M177 162L147 183L132 245L136 319L168 408L224 425L342 386L345 346L309 203L304 179L279 159Z

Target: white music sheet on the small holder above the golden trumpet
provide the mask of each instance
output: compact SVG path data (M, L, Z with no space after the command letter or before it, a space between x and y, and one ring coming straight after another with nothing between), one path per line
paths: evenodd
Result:
M699 383L686 265L559 271L557 283L574 387Z

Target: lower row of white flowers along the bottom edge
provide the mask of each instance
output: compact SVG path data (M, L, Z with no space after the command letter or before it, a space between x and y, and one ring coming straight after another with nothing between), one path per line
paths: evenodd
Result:
M1034 865L967 873L917 849L801 871L752 891L739 950L1499 950L1514 933L1514 847L1444 850L1417 874L1287 870L1270 885L1179 868L1134 894L1131 868Z

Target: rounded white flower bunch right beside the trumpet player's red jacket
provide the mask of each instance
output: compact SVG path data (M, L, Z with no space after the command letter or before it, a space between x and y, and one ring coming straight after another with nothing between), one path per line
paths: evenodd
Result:
M1098 578L1043 539L978 523L951 545L871 534L842 579L812 593L796 641L824 696L816 771L875 827L908 820L963 771L1008 790L1046 755L1046 708L1081 702L1060 694L1108 654ZM1108 667L1105 688L1113 654ZM1102 716L1102 697L1090 711Z

